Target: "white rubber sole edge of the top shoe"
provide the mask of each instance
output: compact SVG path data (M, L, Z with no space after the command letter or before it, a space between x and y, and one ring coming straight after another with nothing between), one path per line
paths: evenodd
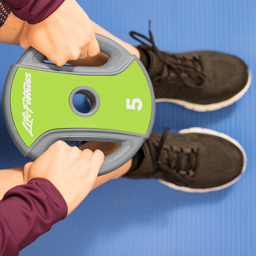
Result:
M244 96L244 93L247 92L252 82L252 73L250 70L248 70L248 74L249 74L248 81L244 86L244 88L228 100L223 100L220 102L206 104L206 105L191 103L185 100L177 100L177 99L169 99L169 98L159 98L159 99L156 99L156 102L171 102L171 103L180 105L184 108L188 108L190 110L195 110L198 112L213 111L213 110L218 110L220 108L225 108L235 103L237 100L241 99Z

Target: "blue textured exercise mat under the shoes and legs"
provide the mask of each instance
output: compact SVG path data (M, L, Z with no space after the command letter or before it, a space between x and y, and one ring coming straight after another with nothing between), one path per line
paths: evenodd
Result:
M159 49L216 50L237 55L252 70L252 85L227 108L196 113L171 103L156 106L155 131L199 126L238 140L248 165L230 188L187 194L155 180L110 181L93 191L65 220L20 255L256 255L256 1L79 1L88 16L131 44L135 30L148 35L148 20ZM1 29L0 29L1 32ZM5 76L23 50L0 44ZM0 112L0 168L25 164Z

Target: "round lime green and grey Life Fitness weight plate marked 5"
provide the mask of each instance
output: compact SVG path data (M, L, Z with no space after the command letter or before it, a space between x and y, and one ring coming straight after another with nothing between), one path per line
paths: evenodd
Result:
M99 176L126 163L153 128L155 97L140 60L113 40L96 34L100 51L109 56L100 67L45 63L30 47L12 65L4 84L4 120L24 156L35 160L57 140L119 143L106 156ZM88 113L73 105L76 93L91 101Z

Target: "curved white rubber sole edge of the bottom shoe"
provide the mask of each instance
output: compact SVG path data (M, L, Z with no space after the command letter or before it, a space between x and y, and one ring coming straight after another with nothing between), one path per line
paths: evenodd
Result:
M184 192L189 192L189 193L206 193L206 192L211 192L211 191L217 191L223 188L228 188L229 186L233 185L234 183L236 183L237 180L239 180L242 175L244 174L244 171L246 169L246 164L247 164L247 157L246 157L246 153L244 151L244 148L233 138L229 137L228 135L221 133L221 132L216 132L210 129L205 129L205 128L201 128L201 127L192 127L189 129L183 129L180 130L179 133L204 133L204 134L211 134L211 135L215 135L218 137L221 137L225 140L230 141L231 143L233 143L234 145L236 145L237 148L239 148L241 150L241 152L243 153L244 156L244 165L243 165L243 169L241 171L241 173L234 179L229 181L228 183L218 186L218 187L214 187L214 188L188 188L188 187L180 187L177 186L171 182L167 182L165 180L161 180L159 179L158 181L161 182L162 184L168 186L169 188L173 188L176 190L180 190L180 191L184 191Z

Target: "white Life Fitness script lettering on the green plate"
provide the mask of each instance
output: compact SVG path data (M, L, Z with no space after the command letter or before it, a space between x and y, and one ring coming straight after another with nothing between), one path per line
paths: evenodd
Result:
M25 73L25 82L23 83L23 109L26 110L22 112L23 121L22 125L25 127L25 129L28 131L28 133L33 137L32 134L32 124L33 124L33 118L31 118L31 114L34 112L30 109L31 105L31 74Z

